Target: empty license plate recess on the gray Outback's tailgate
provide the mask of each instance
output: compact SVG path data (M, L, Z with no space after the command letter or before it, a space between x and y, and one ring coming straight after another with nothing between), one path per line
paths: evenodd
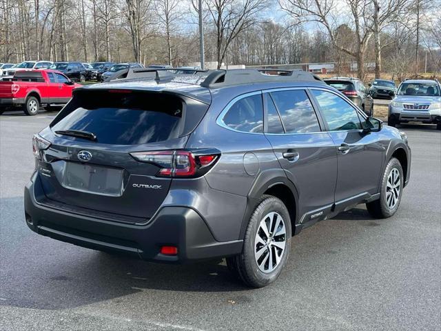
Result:
M108 197L123 195L123 169L76 162L65 162L63 168L63 188Z

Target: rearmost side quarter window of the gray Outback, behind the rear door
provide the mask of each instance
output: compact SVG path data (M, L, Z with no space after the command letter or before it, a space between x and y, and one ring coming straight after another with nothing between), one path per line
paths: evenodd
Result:
M223 122L237 131L263 132L262 94L251 95L236 101L223 117Z

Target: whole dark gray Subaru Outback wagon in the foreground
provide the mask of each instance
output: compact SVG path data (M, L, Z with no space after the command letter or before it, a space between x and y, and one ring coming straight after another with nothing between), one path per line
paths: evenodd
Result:
M395 214L411 164L405 134L298 71L130 69L74 90L33 148L34 232L149 261L226 257L252 287L303 228L359 203Z

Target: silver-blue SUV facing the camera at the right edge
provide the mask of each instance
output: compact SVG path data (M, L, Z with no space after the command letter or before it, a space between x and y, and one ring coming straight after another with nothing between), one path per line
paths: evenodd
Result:
M441 85L439 81L412 79L403 81L389 104L389 126L421 122L436 124L441 130Z

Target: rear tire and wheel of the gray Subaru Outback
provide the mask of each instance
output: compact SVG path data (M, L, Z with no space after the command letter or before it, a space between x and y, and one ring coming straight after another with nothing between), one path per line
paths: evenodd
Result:
M264 195L249 219L242 253L227 258L227 265L246 285L263 288L282 272L290 247L289 212L280 199Z

